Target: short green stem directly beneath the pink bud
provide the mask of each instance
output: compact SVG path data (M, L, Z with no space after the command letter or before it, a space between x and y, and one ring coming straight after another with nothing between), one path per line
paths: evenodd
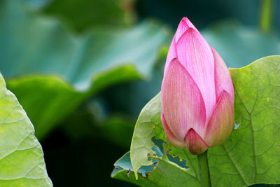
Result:
M200 168L201 186L211 187L207 151L205 151L201 155L197 155L197 159L198 159L198 166Z

